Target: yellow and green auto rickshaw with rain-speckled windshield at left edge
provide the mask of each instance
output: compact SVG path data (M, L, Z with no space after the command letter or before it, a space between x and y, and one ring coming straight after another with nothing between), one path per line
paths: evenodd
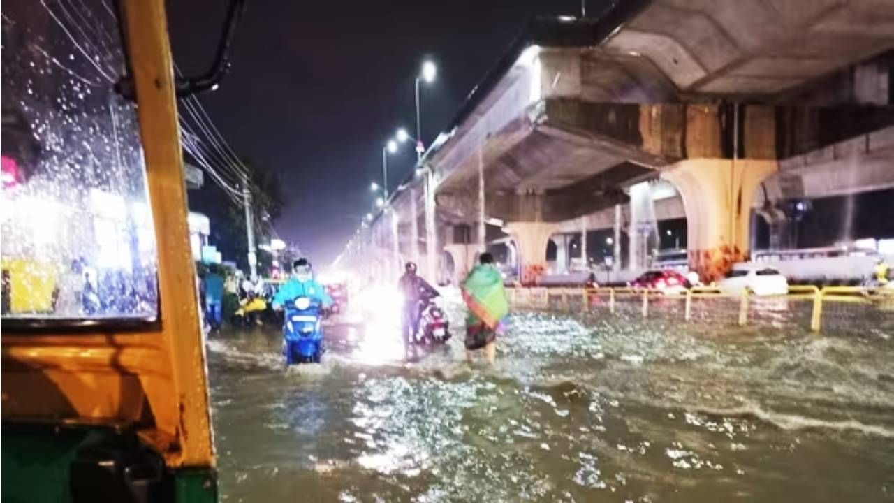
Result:
M164 0L3 4L3 501L217 499L177 98L242 4L198 78Z

